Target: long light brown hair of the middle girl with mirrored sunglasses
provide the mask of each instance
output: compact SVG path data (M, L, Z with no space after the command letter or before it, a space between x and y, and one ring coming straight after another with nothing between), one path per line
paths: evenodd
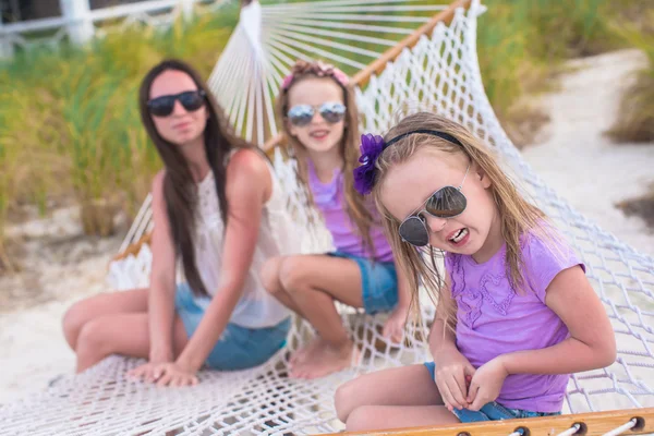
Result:
M371 253L371 256L375 256L375 245L371 238L371 227L375 225L375 219L371 213L371 205L366 202L365 197L354 190L354 168L359 166L359 110L356 108L356 99L354 88L351 84L347 86L335 77L335 74L342 74L335 72L335 68L330 64L323 62L306 62L298 60L291 69L292 80L287 87L280 90L279 97L277 98L275 111L278 119L278 123L284 133L287 144L287 154L296 159L298 164L298 180L301 187L307 198L306 207L313 207L313 195L308 189L308 170L307 170L307 155L306 148L296 137L291 135L288 129L287 112L289 110L289 90L291 87L306 78L315 77L328 77L334 81L343 92L343 102L346 105L346 126L343 131L343 137L339 144L339 153L342 160L342 177L344 192L343 196L346 199L346 211L352 222L356 226L356 231L363 239L363 243Z

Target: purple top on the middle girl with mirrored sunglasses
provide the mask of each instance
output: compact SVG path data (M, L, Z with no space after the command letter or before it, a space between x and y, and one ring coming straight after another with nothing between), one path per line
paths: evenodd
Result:
M336 250L352 256L374 258L377 262L392 262L392 251L382 226L371 228L375 255L372 256L367 247L364 246L363 239L356 231L356 225L346 211L342 172L335 170L331 181L323 183L316 174L313 162L308 159L307 168L308 186L313 194L314 203L323 214L325 225L329 233L331 233ZM376 216L376 210L372 206L370 210Z

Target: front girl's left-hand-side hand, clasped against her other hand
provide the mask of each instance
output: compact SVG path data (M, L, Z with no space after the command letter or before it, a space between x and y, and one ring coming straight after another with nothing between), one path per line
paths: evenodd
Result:
M435 382L445 407L467 409L468 380L474 379L475 370L468 359L453 347L439 351L434 356L436 364Z

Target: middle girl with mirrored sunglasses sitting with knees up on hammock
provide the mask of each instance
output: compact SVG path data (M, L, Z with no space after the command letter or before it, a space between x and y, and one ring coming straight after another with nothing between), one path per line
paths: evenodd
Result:
M398 341L410 294L408 282L398 278L374 205L352 183L359 119L348 77L331 65L299 61L283 81L277 112L298 159L299 179L337 250L278 257L264 269L268 291L317 330L317 338L290 359L292 377L315 378L358 359L335 300L371 314L392 311L384 335Z

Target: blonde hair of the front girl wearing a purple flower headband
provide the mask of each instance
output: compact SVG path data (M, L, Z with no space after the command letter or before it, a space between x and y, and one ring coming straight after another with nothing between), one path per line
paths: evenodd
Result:
M461 145L457 145L444 138L431 134L415 133L403 137L386 148L377 158L375 167L375 182L373 196L377 208L384 216L384 227L389 237L389 242L395 253L395 258L400 268L407 272L410 289L412 290L412 304L417 301L417 287L422 283L429 291L433 299L441 295L445 279L436 267L436 251L428 245L416 250L413 245L402 242L398 227L400 222L388 213L380 201L380 190L388 170L398 164L405 162L417 150L429 147L439 152L450 154L463 154L471 162L473 169L480 169L491 181L491 193L498 209L500 218L501 237L506 242L507 277L513 289L526 288L521 256L520 238L528 231L547 238L545 214L536 206L529 203L517 190L512 181L507 177L499 162L491 150L465 128L444 117L419 112L401 120L390 129L384 140L390 140L416 130L434 130L447 133L457 138ZM423 254L428 254L431 265L425 262ZM452 315L453 307L447 310Z

